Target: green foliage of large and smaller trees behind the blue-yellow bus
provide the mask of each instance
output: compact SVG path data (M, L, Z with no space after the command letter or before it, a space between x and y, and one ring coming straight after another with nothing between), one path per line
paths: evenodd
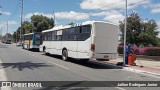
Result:
M54 20L52 18L48 18L42 15L33 15L31 16L31 22L24 21L22 23L22 33L27 34L32 32L42 32L43 30L51 29L53 27L54 27ZM19 40L20 30L21 27L19 27L17 31L14 32L13 34L14 40L16 40L16 35L17 39Z

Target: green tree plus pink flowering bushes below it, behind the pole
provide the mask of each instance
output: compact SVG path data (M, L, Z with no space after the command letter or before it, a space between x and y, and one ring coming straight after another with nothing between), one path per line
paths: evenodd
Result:
M120 21L119 27L121 39L118 53L123 54L124 21ZM155 20L143 20L133 12L127 18L126 42L133 45L131 48L137 55L160 56L160 38L157 29Z

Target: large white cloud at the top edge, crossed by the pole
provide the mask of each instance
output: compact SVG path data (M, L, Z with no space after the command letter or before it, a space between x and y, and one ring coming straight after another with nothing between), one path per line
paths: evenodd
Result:
M150 0L145 0L141 2L140 0L128 0L128 9L134 8L138 5L145 5L150 3ZM80 3L80 7L82 9L99 9L99 10L107 10L107 9L124 9L125 8L125 0L83 0Z

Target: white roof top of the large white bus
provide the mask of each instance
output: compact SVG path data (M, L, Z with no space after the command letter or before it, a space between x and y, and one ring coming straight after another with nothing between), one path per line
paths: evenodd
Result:
M78 24L74 24L74 25L59 25L59 26L53 27L52 29L44 30L42 32L56 31L56 30L59 30L59 29L66 29L66 28L78 27L78 26L83 26L83 25L92 25L96 22L97 23L99 22L99 23L107 23L107 24L116 25L116 24L113 24L113 23L105 22L105 21L86 21L86 22L78 23Z

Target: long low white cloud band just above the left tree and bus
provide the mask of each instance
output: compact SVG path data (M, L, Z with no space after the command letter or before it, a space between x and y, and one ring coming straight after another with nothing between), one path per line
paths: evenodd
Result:
M28 13L27 15L24 16L24 18L28 19L32 15L43 15L43 16L46 16L49 18L54 17L53 14L45 14L45 13L41 13L41 12L35 12L35 13ZM88 19L89 15L87 13L69 11L69 12L56 12L55 17L56 17L56 19L82 20L82 19Z

